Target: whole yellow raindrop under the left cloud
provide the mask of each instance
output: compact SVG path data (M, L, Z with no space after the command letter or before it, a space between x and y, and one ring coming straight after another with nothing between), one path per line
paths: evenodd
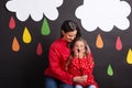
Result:
M23 38L24 43L31 43L32 37L31 37L31 34L30 34L28 28L24 29L23 37L22 38Z

